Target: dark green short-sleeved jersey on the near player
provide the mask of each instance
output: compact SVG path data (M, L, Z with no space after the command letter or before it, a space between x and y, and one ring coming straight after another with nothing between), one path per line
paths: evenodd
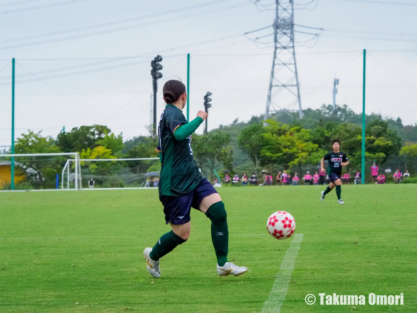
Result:
M159 146L162 168L159 176L159 197L179 197L195 189L204 179L198 171L191 149L191 135L184 140L175 139L173 133L187 120L180 109L168 104L159 121Z

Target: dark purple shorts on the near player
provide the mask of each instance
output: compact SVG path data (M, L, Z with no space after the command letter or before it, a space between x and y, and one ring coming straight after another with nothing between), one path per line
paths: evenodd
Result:
M191 220L191 207L198 210L204 197L216 193L217 191L213 185L207 179L203 179L192 192L181 197L161 196L166 224L170 221L173 225L189 222Z

